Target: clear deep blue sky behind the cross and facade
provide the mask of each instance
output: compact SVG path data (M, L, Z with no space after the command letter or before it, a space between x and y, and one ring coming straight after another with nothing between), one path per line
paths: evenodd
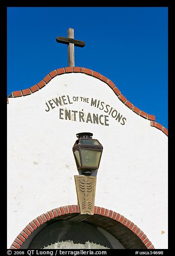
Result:
M67 45L75 39L75 66L106 76L137 108L168 129L167 7L8 7L7 95L68 66Z

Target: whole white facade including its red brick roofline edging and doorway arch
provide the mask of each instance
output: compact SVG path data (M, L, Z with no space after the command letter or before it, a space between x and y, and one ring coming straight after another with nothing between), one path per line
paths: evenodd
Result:
M36 245L54 222L72 230L71 221L97 227L106 244L94 239L93 245L167 248L168 138L155 116L129 102L107 77L81 67L55 69L13 91L8 103L8 248ZM88 216L79 214L74 179L72 147L81 132L103 145L94 171L96 207ZM47 241L42 248L62 240Z

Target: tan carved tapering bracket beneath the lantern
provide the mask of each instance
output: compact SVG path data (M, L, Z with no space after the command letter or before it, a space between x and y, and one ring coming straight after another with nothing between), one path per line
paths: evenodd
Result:
M80 213L93 215L97 178L84 175L74 177Z

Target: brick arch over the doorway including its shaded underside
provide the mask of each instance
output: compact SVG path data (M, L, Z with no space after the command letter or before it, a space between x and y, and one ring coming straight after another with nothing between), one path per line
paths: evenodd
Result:
M118 232L121 233L120 242L124 247L127 244L125 245L122 243L122 238L125 237L126 234L128 237L128 241L131 241L132 244L134 243L133 248L135 248L136 244L141 244L141 248L155 248L154 245L152 245L151 241L148 239L148 237L139 227L137 227L137 225L135 225L133 222L129 221L129 219L125 218L124 216L120 215L115 211L95 206L94 215L81 215L79 214L79 212L79 205L67 205L47 211L45 214L41 214L37 218L33 219L33 221L31 221L18 234L18 236L16 237L16 239L14 239L12 245L10 246L10 249L20 249L21 245L23 245L25 240L32 234L32 232L40 227L43 223L49 222L52 219L67 219L71 216L74 216L74 218L80 218L79 221L84 221L87 218L86 223L93 224L95 226L105 229L107 232L110 232L116 239L118 239L118 237L115 235L115 231L117 229ZM126 238L124 238L123 241L125 241L125 239ZM128 243L128 241L125 241L124 243ZM132 248L129 246L130 245L128 245L128 249Z

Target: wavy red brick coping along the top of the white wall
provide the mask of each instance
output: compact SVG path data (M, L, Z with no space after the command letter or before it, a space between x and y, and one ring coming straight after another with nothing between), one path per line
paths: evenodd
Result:
M19 90L19 91L12 91L12 93L8 96L7 98L7 103L9 103L9 98L16 98L16 97L21 97L21 96L27 96L30 94L35 93L35 91L38 91L42 89L43 87L46 86L46 84L52 80L55 76L57 75L62 75L65 73L83 73L86 75L90 75L93 77L96 77L96 79L99 79L103 82L105 82L115 93L115 95L120 99L120 101L125 104L130 110L135 112L138 116L141 116L145 119L150 120L150 125L153 127L156 127L157 129L161 130L163 133L168 136L168 130L162 125L157 122L155 122L155 116L154 115L149 115L148 113L138 109L136 106L134 106L128 99L121 94L120 90L118 87L115 86L115 84L109 80L106 76L101 75L100 73L93 71L89 68L83 68L83 67L64 67L64 68L57 68L54 69L52 72L47 74L39 83L35 84L34 86L24 89L24 90Z

